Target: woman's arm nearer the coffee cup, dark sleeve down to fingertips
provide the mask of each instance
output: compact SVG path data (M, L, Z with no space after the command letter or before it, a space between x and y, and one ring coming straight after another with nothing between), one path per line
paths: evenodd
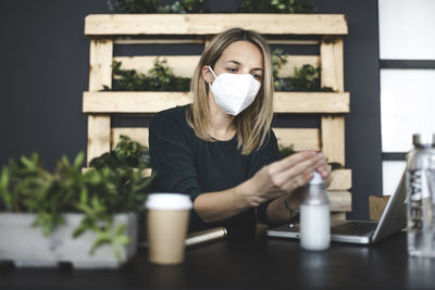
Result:
M224 220L289 193L306 185L311 178L311 172L324 162L323 155L314 151L299 152L265 166L260 165L264 162L260 162L260 169L254 168L252 177L245 182L227 190L201 193L191 144L179 124L183 124L183 119L169 118L167 112L159 113L151 119L149 148L152 168L158 172L152 186L159 192L189 193L195 200L195 223L198 224ZM263 156L272 156L273 151L278 153L276 139L272 140L274 142L270 141L269 149L274 150L264 152ZM265 214L273 218L272 212L275 211L271 212L271 209Z

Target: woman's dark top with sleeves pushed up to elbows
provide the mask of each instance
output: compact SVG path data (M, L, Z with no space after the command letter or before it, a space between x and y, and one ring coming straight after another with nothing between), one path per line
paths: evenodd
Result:
M157 174L152 181L153 192L186 193L195 201L201 193L233 188L279 159L272 130L265 144L249 155L243 155L237 149L237 137L214 142L198 138L187 124L186 108L162 111L150 122L149 150L152 171ZM224 226L229 235L249 234L257 218L268 223L266 205L249 209L215 224L206 224L192 210L189 230Z

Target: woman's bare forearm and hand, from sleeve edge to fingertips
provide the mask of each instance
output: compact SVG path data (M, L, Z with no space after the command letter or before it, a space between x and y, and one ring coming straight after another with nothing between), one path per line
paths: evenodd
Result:
M262 167L252 178L234 188L200 194L194 202L195 211L206 223L229 218L306 185L312 178L312 172L323 163L323 155L314 151L293 154ZM278 200L268 206L268 216L273 223L288 214Z

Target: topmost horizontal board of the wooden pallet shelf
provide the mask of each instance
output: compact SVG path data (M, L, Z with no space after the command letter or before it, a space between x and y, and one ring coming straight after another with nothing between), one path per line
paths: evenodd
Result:
M243 24L268 35L347 35L344 14L95 14L85 35L213 35Z

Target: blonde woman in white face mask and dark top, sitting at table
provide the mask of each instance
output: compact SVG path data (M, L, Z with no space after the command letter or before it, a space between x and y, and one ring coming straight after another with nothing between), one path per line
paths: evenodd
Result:
M191 80L192 103L151 119L152 190L190 194L190 230L221 225L229 234L247 234L256 217L284 224L289 209L298 207L291 193L313 171L331 182L322 153L303 151L279 161L271 129L273 89L265 39L229 29L203 51Z

